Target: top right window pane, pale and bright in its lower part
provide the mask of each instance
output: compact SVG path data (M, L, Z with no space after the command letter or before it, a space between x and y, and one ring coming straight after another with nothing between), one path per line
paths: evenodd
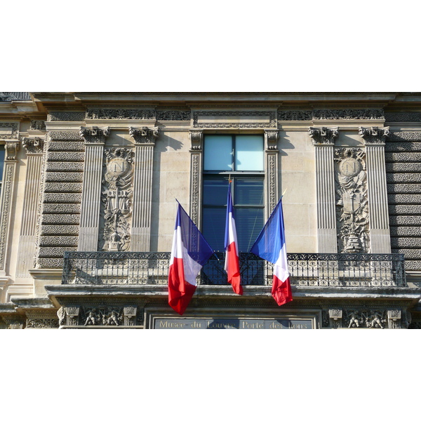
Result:
M236 171L265 171L262 136L236 136L235 166Z

